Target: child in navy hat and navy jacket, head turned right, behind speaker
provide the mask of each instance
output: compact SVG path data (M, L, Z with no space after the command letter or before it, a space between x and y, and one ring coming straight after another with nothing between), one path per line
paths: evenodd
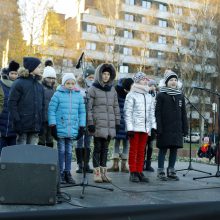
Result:
M18 134L17 144L38 144L43 128L44 90L41 79L41 61L24 57L18 79L13 83L8 100L13 128Z

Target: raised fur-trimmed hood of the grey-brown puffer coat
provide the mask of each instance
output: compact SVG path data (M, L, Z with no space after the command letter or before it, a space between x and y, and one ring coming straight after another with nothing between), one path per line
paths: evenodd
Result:
M104 86L104 84L102 83L102 71L105 68L110 69L110 80L105 85L112 86L113 85L113 81L114 81L114 79L116 77L116 70L115 70L115 67L113 66L113 64L111 64L111 63L103 63L103 64L100 64L96 68L94 82L95 83L99 83L101 86Z

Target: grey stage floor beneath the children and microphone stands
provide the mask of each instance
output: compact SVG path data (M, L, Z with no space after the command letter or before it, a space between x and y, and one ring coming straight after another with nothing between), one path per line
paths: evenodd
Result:
M82 174L76 174L76 164L73 163L73 176L77 183L81 182ZM110 163L108 164L111 165ZM176 169L188 168L188 162L177 162ZM157 168L157 163L153 162L152 166ZM216 174L216 165L201 163L192 163L194 169ZM52 206L38 205L0 205L0 212L27 212L39 210L62 210L62 209L79 209L82 207L111 207L111 206L130 206L130 205L156 205L156 204L177 204L192 202L212 202L220 201L220 178L207 178L193 180L193 177L207 176L197 171L178 172L180 181L159 181L156 172L144 172L150 179L150 183L131 183L129 174L110 173L113 183L95 184L113 188L114 191L107 191L87 186L85 188L84 199L80 198L82 187L72 186L65 188L62 186L61 192L71 196L69 203L62 202ZM92 174L87 174L88 183L94 184Z

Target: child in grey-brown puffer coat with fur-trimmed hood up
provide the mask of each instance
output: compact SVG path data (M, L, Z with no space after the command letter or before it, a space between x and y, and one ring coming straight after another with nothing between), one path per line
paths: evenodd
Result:
M108 146L120 126L120 110L113 81L116 76L112 64L100 64L95 82L89 88L88 131L94 135L94 181L110 182L107 175Z

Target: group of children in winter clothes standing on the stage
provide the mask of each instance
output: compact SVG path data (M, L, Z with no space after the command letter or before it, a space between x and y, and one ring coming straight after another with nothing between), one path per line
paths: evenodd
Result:
M88 66L77 78L73 72L63 73L58 83L51 60L44 66L36 57L24 57L21 66L11 61L1 70L0 153L11 145L53 148L57 142L60 182L74 184L76 141L76 173L93 173L94 182L102 183L112 181L108 172L121 171L130 173L131 182L149 182L143 171L154 172L155 145L158 179L179 180L175 162L188 126L177 74L166 70L159 85L143 72L119 79L116 86L115 80L110 63ZM107 168L111 140L113 164Z

